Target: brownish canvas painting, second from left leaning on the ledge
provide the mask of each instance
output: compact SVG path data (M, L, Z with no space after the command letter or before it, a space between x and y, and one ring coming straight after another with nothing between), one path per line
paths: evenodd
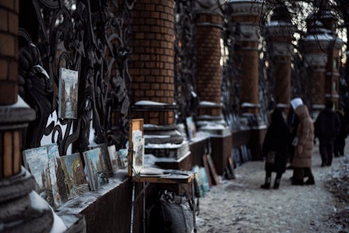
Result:
M73 153L59 158L61 170L64 173L64 188L67 200L81 195L89 190L80 153Z

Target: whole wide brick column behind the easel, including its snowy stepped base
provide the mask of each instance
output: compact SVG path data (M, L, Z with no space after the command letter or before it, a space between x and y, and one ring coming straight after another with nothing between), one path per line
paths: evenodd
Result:
M148 124L145 153L175 159L188 156L188 142L178 135L174 122L174 0L137 1L131 24L132 117ZM140 105L140 100L150 102ZM177 145L168 149L167 143Z

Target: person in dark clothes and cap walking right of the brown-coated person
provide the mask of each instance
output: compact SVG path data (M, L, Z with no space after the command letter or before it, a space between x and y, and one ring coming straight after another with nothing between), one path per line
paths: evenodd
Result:
M321 167L331 166L334 152L334 139L339 135L341 121L336 112L332 111L332 101L327 101L325 110L322 110L315 121L315 136L319 138Z

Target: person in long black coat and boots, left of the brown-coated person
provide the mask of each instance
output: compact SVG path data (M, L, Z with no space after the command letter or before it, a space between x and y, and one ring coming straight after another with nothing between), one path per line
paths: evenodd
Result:
M276 172L274 188L279 188L281 176L285 172L288 159L288 146L290 142L290 130L283 119L280 110L272 112L272 123L270 123L265 140L263 142L262 154L265 160L265 183L261 188L269 188L272 181L272 172ZM274 154L274 156L273 156Z

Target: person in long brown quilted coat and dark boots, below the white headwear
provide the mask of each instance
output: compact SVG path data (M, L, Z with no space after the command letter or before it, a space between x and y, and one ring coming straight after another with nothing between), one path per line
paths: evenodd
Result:
M306 105L298 105L295 114L299 121L297 127L297 137L293 145L295 155L291 166L293 168L292 185L315 184L313 173L311 172L311 156L313 156L314 128L313 121L309 116ZM304 183L304 178L309 177Z

